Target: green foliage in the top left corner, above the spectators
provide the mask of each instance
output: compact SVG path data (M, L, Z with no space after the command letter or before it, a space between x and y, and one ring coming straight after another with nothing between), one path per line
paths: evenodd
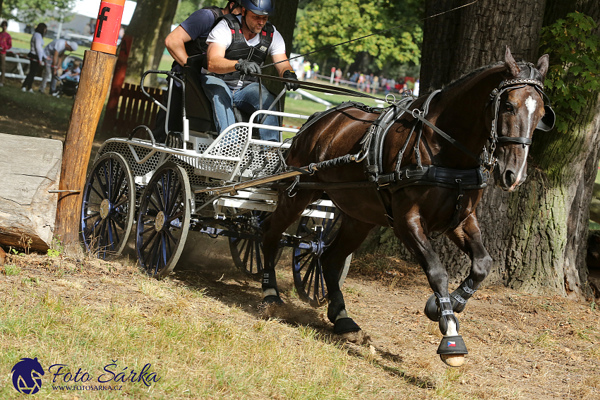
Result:
M74 0L4 0L2 18L11 18L28 25L47 22L47 14L57 16L68 13L75 6ZM17 11L16 16L11 13ZM60 18L60 17L58 17ZM64 21L71 18L64 18Z

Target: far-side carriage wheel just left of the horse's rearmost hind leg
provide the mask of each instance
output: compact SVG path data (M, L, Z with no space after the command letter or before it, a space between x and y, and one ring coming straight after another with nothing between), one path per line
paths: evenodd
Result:
M250 210L246 216L244 226L245 233L262 237L263 231L260 226L271 212ZM246 272L250 277L258 279L263 276L265 255L263 253L263 241L248 238L229 237L229 250L232 252L232 258L236 267ZM275 265L281 257L282 248L277 250L275 255Z

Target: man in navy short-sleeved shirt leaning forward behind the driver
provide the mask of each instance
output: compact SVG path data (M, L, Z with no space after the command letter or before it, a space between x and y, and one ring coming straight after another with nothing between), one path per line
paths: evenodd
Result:
M164 40L164 45L175 60L171 66L171 71L183 72L188 57L206 53L208 47L206 38L215 26L216 20L227 14L239 14L240 12L241 6L237 1L232 0L227 1L224 8L210 6L193 12ZM169 114L169 126L172 126L174 131L181 131L183 129L181 111L179 111L181 110L181 83L175 81L172 92L171 108L177 110L177 112ZM157 115L156 128L152 132L159 142L164 142L167 138L167 133L164 131L166 117L167 112L160 109Z

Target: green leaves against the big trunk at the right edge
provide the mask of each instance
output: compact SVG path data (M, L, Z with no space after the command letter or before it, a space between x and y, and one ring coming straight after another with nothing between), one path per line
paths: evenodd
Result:
M570 13L541 32L541 49L550 56L544 85L556 111L556 128L566 132L570 121L600 90L600 39L596 23L582 13Z

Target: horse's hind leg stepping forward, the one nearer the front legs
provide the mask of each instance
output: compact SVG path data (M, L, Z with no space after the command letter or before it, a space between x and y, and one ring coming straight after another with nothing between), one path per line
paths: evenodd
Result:
M323 277L328 293L327 317L333 324L335 334L343 336L361 330L346 311L344 295L340 290L340 273L347 257L359 248L373 226L375 225L342 214L342 224L337 235L321 255Z

